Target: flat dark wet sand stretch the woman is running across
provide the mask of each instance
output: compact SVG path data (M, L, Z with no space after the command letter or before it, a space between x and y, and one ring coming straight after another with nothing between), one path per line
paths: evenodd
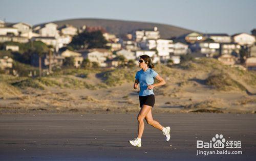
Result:
M255 114L156 114L171 127L172 139L164 142L161 131L145 122L140 148L127 142L136 136L136 116L1 115L0 160L255 160ZM216 133L241 140L243 154L197 156L196 141Z

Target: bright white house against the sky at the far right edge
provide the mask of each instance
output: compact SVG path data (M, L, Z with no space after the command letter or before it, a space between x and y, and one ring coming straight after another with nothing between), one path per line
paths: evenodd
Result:
M240 45L252 46L255 42L255 37L247 33L232 35L232 40Z

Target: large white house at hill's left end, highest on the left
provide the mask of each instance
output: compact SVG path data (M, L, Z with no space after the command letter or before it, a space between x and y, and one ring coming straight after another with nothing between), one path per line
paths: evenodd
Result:
M34 31L41 37L59 37L58 25L55 23L46 23L43 25L35 26Z

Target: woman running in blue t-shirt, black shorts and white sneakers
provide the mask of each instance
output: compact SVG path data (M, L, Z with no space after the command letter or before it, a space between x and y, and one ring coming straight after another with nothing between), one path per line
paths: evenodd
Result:
M164 79L152 68L154 65L151 65L151 59L147 55L140 56L139 59L140 71L136 73L135 83L133 88L138 88L138 83L140 84L140 112L138 114L138 137L134 140L130 140L129 143L133 146L141 147L141 137L144 130L144 118L146 122L153 127L161 130L165 136L165 141L170 140L170 127L163 127L159 122L153 119L152 117L152 108L155 104L155 95L153 92L154 87L165 85ZM159 83L154 84L154 78L156 78Z

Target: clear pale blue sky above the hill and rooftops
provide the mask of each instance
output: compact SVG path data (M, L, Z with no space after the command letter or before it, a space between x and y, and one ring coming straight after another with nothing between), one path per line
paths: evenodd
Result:
M38 24L70 18L106 18L172 24L207 33L250 33L255 0L0 0L0 20Z

